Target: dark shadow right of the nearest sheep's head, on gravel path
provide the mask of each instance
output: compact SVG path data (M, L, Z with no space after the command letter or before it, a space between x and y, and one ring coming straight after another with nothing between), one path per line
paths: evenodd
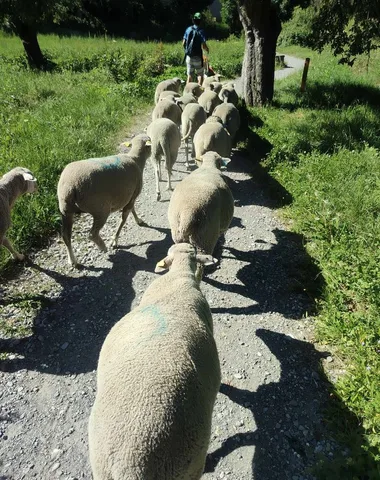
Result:
M236 274L238 282L223 283L214 278L205 278L204 281L222 291L250 299L252 303L242 306L237 298L233 306L213 307L213 313L252 315L278 312L287 318L302 318L306 312L314 310L324 279L305 251L303 237L279 229L273 233L277 243L269 249L245 252L224 246L222 259L233 258L245 264Z

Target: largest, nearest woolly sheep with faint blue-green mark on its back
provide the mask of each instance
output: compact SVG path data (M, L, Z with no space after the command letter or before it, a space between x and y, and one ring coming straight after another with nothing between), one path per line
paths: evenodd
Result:
M209 258L189 244L171 246L169 272L106 337L88 430L94 480L201 478L221 380L210 307L194 274Z

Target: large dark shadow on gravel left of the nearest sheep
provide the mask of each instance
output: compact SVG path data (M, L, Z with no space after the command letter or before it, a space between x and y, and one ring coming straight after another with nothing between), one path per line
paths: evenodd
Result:
M69 276L34 264L33 268L52 277L63 289L53 300L40 296L42 308L34 318L31 336L0 339L0 352L15 354L1 362L0 369L55 375L95 370L106 335L131 309L136 295L132 284L135 274L141 270L153 272L160 259L156 249L150 248L152 242L148 243L147 258L121 248L110 255L111 267L84 267L94 271L94 276Z

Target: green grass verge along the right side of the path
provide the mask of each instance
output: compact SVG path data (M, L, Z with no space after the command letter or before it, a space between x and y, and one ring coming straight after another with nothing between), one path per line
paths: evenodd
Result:
M252 109L253 152L293 198L283 215L307 240L324 278L316 334L343 359L328 421L349 456L320 478L380 478L380 53L350 69L328 52L276 83L274 104ZM377 60L377 61L376 61ZM364 66L363 66L364 65ZM367 475L367 476L366 476Z

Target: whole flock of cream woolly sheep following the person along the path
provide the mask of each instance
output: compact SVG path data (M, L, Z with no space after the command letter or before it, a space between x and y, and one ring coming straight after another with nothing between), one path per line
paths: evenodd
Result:
M192 138L199 168L177 184L168 218L174 245L157 263L154 280L138 307L111 329L102 346L97 393L89 420L90 463L95 480L198 480L203 473L211 418L220 386L220 365L210 308L200 290L204 265L233 218L234 199L221 173L230 161L240 126L238 96L220 76L201 87L179 78L158 84L152 122L136 135L127 154L68 164L59 179L62 238L68 261L78 266L71 236L75 213L93 217L90 239L103 251L99 232L111 212L122 212L112 246L142 190L143 170L154 165L160 200L161 158L167 189L181 142ZM182 131L182 135L180 133ZM5 234L15 200L36 190L25 168L0 179L0 244L18 253Z

